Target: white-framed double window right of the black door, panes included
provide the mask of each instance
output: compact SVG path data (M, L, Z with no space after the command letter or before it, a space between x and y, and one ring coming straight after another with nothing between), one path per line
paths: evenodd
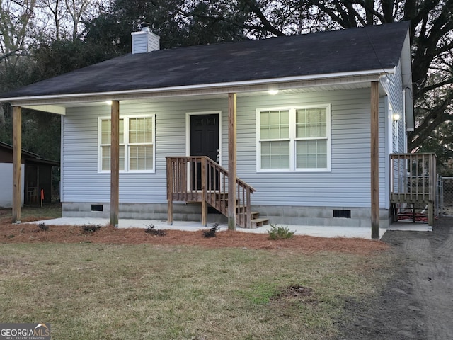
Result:
M257 171L330 171L331 106L260 108Z

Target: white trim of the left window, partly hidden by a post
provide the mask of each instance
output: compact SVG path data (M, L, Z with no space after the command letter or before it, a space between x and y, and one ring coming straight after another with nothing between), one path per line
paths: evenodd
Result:
M153 124L153 169L152 170L130 170L130 143L129 143L129 120L130 118L151 118ZM102 122L103 120L110 120L110 116L100 116L98 117L98 174L110 174L110 170L102 169ZM155 174L156 173L156 115L153 113L147 113L144 115L125 115L120 117L120 120L124 121L124 142L120 145L125 147L125 169L120 170L120 174ZM147 143L144 143L147 144ZM110 143L109 143L110 145ZM137 145L137 144L132 144Z

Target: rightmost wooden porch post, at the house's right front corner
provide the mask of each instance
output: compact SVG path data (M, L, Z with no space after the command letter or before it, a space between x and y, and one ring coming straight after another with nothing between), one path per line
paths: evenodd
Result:
M379 81L371 83L371 237L379 239Z

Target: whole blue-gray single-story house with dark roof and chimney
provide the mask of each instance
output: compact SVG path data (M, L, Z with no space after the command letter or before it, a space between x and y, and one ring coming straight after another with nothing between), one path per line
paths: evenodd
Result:
M408 30L159 50L144 28L131 54L0 101L18 120L21 107L62 115L63 216L205 224L215 209L230 228L371 226L377 237L392 220L390 155L414 128Z

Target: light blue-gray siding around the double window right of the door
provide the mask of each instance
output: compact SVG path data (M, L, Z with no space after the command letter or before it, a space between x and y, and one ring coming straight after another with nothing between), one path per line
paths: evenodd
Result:
M272 100L272 101L270 101ZM256 172L256 108L331 104L330 172ZM384 206L384 112L380 113L379 144ZM238 99L238 176L256 188L253 204L369 207L370 90L326 91L291 96ZM256 162L256 161L255 161Z

